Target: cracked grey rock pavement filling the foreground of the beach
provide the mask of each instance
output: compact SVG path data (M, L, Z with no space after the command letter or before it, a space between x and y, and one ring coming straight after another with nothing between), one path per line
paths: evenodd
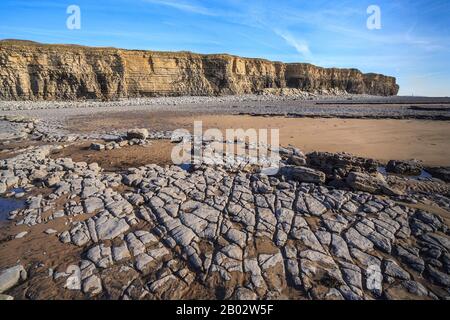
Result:
M130 138L151 139L136 130ZM29 245L34 252L18 253L19 263L2 262L0 293L450 298L450 198L443 181L410 183L374 173L372 160L305 156L294 148L280 150L276 176L206 164L108 172L51 158L59 148L44 143L0 160L3 195L23 189L24 205L9 223L26 232L2 235L1 250Z

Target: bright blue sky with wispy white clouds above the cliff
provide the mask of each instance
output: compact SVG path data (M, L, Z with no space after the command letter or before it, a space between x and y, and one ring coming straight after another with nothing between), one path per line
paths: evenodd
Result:
M81 29L66 27L69 5ZM369 30L366 10L381 9ZM397 77L401 95L450 96L449 0L1 0L0 38L231 53Z

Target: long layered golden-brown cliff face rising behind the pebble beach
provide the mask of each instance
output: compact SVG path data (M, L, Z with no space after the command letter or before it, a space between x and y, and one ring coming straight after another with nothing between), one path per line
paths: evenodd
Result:
M395 95L395 78L230 55L0 41L0 99L225 95L265 88Z

